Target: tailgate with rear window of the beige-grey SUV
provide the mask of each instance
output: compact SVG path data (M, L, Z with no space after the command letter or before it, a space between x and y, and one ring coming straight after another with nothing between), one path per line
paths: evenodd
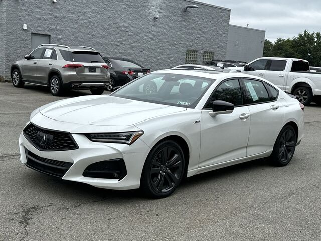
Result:
M75 69L79 78L99 79L106 78L108 70L102 65L105 61L100 54L95 51L73 51L72 61L74 64L79 64L80 67Z

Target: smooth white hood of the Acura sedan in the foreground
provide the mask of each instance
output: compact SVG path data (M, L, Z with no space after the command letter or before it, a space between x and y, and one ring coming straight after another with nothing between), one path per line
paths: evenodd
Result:
M131 126L146 119L185 111L186 108L114 96L82 96L53 102L40 113L60 122L101 126Z

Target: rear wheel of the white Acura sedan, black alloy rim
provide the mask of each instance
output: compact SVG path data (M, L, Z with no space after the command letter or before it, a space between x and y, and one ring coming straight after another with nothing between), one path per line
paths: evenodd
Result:
M285 126L280 131L270 156L275 166L286 166L292 159L295 152L296 134L292 126Z

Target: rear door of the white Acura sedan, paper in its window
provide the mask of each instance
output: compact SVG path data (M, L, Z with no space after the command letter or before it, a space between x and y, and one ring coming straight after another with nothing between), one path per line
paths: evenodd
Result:
M243 79L251 129L247 156L264 153L273 148L284 119L284 106L277 102L278 90L257 79Z

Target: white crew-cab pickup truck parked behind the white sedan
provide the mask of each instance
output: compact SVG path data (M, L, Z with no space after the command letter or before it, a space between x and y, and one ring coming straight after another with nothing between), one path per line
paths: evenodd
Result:
M232 71L265 78L283 91L295 95L304 105L312 101L321 105L321 73L310 72L306 60L258 58L244 67L233 68Z

